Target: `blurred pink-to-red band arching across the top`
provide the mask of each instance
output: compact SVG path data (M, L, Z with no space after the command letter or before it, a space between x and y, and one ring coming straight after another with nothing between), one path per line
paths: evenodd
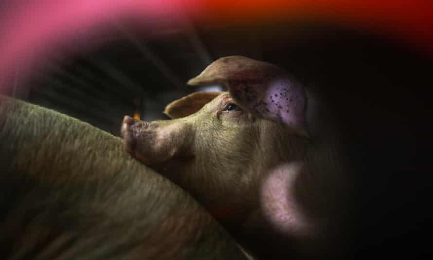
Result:
M0 17L0 88L23 61L37 60L60 43L77 49L123 19L158 28L158 19L188 14L198 24L313 18L378 31L433 53L429 0L35 0L9 1ZM0 89L1 90L1 89Z

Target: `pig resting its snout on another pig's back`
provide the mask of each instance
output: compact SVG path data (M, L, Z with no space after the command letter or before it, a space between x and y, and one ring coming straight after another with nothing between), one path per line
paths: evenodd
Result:
M172 102L164 112L173 120L126 116L126 150L189 191L259 259L344 254L350 185L333 136L309 133L305 89L242 56L216 60L188 84L228 92Z

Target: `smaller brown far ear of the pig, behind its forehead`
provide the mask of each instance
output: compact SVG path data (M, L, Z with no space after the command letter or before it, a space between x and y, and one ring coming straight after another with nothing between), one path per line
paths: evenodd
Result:
M199 111L222 92L196 92L175 100L165 107L164 114L172 119L185 117Z

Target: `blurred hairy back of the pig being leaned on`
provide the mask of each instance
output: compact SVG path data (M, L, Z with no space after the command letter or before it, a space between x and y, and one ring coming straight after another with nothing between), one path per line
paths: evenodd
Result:
M190 195L87 123L0 96L1 259L246 259Z

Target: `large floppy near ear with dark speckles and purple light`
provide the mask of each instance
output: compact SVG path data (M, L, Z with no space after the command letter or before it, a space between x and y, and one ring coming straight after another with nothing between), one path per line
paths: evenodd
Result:
M308 136L304 88L281 68L243 56L211 63L190 85L225 85L239 106Z

